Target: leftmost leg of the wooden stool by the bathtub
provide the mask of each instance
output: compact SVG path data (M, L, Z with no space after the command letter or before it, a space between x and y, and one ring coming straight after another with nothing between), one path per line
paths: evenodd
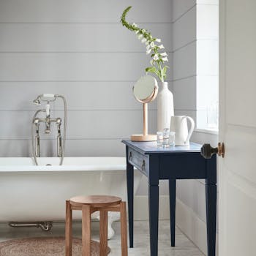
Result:
M72 209L69 200L66 201L65 255L72 256Z

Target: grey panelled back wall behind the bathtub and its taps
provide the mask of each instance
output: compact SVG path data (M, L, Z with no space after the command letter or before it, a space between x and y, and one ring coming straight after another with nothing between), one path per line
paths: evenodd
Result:
M132 84L149 61L119 23L129 5L129 20L171 52L171 0L0 1L0 157L31 155L31 101L42 93L67 97L67 156L124 156L121 138L142 130ZM155 102L149 109L155 132ZM52 115L63 116L58 102ZM54 132L42 135L45 156L55 154Z

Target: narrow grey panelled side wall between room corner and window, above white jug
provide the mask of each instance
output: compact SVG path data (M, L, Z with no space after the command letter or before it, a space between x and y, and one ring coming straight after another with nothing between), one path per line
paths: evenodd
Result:
M196 0L173 0L173 94L176 115L196 118Z

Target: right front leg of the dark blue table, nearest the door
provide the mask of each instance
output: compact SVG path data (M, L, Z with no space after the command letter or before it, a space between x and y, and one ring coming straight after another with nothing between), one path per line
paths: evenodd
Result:
M206 184L206 222L208 256L215 256L217 186Z

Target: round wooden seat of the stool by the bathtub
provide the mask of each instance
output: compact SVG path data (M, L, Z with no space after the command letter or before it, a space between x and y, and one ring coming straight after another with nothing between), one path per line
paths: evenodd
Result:
M115 206L121 203L120 197L112 195L87 195L70 198L72 206L90 205L92 207Z

